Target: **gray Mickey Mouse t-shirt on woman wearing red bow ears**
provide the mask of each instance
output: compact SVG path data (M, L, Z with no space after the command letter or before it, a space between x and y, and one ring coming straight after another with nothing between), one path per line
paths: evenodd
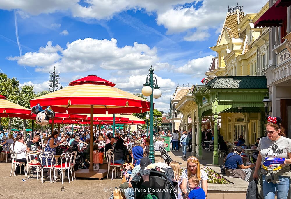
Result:
M279 171L283 167L289 167L289 164L269 164L266 162L267 157L272 158L287 158L289 159L287 153L291 152L291 139L280 136L276 141L270 140L268 137L263 137L259 141L257 150L260 151L262 156L262 168L265 171Z

